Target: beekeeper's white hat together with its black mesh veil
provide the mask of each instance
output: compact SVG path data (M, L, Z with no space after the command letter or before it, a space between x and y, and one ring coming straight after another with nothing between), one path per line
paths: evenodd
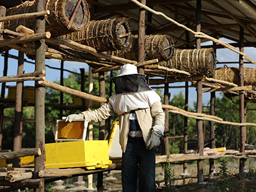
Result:
M137 67L132 64L123 65L120 68L120 75L112 77L115 83L116 94L134 93L152 90L145 79L145 75L138 74Z

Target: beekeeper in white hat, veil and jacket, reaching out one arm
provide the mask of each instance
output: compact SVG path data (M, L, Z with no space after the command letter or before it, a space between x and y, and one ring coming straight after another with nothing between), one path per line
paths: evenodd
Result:
M139 168L140 192L156 190L156 147L164 132L164 112L160 97L148 86L145 75L132 64L123 65L120 75L111 78L115 94L95 111L68 115L66 122L86 119L100 122L118 114L122 146L122 186L124 192L135 192ZM139 165L139 166L138 166Z

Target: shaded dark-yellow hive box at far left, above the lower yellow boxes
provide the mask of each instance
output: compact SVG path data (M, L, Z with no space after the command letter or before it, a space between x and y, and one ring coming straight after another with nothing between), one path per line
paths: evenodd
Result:
M16 87L8 86L8 99L15 99L16 97ZM35 102L35 87L33 86L24 86L22 92L22 100L30 103Z

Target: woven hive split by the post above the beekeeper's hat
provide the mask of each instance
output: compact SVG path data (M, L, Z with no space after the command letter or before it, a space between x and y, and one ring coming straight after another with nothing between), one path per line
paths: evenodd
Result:
M168 60L173 55L174 44L168 35L145 35L145 59ZM134 35L130 51L114 51L113 54L128 60L138 61L138 36Z

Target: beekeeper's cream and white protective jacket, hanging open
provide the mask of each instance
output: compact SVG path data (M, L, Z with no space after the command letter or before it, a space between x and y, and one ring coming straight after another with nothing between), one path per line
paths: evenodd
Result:
M125 152L129 134L129 115L134 110L145 143L150 138L151 128L163 135L164 112L160 97L153 90L136 93L114 94L109 101L95 111L81 112L89 122L100 122L114 113L118 114L120 145Z

